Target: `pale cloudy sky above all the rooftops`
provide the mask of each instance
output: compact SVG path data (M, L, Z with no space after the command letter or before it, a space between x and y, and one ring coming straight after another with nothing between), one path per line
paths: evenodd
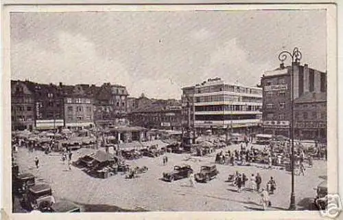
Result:
M301 63L327 71L324 10L12 12L10 19L14 80L112 83L133 97L180 99L182 87L208 78L255 86L294 47Z

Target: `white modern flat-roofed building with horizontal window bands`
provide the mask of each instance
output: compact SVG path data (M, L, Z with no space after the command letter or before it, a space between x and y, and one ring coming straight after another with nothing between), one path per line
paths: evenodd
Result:
M262 89L210 78L182 88L182 125L196 130L256 131L261 123Z

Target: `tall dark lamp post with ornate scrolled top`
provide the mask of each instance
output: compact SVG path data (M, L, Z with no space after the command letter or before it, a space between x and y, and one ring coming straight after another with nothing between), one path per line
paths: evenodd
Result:
M289 210L296 210L296 197L294 195L294 64L300 62L302 57L301 52L298 47L294 47L293 52L283 51L279 54L279 61L283 63L287 60L287 57L292 59L292 73L291 73L291 123L290 123L290 137L291 137L291 170L292 170L292 188L291 188L291 198L289 203Z

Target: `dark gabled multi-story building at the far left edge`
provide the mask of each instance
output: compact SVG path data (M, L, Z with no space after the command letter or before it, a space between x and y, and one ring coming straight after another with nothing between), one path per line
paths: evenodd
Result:
M34 128L36 111L33 88L27 81L11 80L12 130Z

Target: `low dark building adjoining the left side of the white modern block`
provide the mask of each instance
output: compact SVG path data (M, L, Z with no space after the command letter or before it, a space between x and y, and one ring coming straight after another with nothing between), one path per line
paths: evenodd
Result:
M181 129L181 105L179 102L168 100L156 100L138 109L134 109L130 115L130 124L142 126L147 129Z

